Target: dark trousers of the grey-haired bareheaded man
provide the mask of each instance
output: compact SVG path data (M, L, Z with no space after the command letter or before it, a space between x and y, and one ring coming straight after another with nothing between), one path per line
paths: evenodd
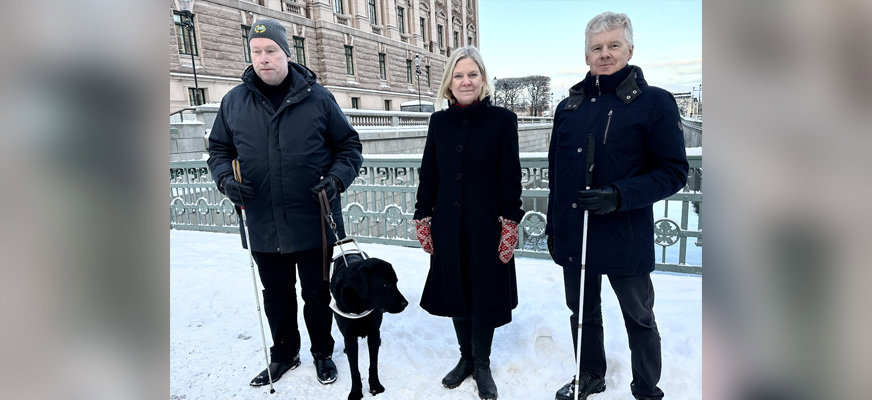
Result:
M581 269L564 268L566 305L572 311L572 349L578 344L578 290ZM654 286L651 274L607 275L621 306L630 344L633 368L631 390L635 397L662 398L660 381L660 332L654 320ZM602 275L585 271L584 313L581 332L581 371L598 377L606 375L603 341ZM579 373L581 372L579 371Z

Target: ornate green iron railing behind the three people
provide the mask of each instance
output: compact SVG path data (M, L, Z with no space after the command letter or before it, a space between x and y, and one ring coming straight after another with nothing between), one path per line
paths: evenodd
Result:
M688 161L691 168L702 168L701 153L688 154ZM346 233L360 242L419 246L411 220L420 165L419 154L366 155L360 175L341 196ZM547 154L521 153L521 170L521 199L526 214L521 220L516 254L547 259ZM218 192L205 161L170 163L170 192L171 228L238 232L233 205ZM674 203L679 204L679 212L672 206ZM655 205L658 270L702 273L702 226L697 217L701 209L702 192L689 188ZM696 238L690 243L696 248L689 257L690 238Z

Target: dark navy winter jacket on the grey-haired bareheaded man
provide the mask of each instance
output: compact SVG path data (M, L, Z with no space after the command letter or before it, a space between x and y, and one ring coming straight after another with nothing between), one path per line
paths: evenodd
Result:
M597 85L599 83L599 85ZM652 205L687 182L687 157L678 106L669 92L648 86L642 70L627 66L599 80L588 73L570 89L554 116L548 150L550 189L545 232L554 237L554 261L581 265L587 136L595 138L592 188L614 185L618 210L590 213L587 265L591 272L631 275L654 270Z

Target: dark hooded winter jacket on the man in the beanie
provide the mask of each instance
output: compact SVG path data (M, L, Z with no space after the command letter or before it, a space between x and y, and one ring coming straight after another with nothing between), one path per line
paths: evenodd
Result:
M363 162L357 132L315 73L296 63L288 63L288 73L290 90L275 110L254 85L249 66L243 83L221 100L209 134L209 168L216 181L232 173L231 161L238 158L242 178L254 188L245 205L251 249L265 253L321 247L320 208L309 189L327 174L348 187ZM331 210L340 238L345 237L338 196Z

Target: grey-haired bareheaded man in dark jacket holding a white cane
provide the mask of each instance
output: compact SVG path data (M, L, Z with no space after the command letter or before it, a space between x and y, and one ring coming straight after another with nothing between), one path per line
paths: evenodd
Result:
M637 399L660 399L660 334L654 320L654 217L652 205L687 182L687 158L672 95L648 86L633 55L625 14L606 12L585 30L590 72L570 89L554 117L548 151L549 250L563 266L566 305L577 344L583 211L589 210L584 279L579 398L605 390L600 289L609 277L627 329ZM595 149L588 149L593 135ZM593 151L593 183L585 190L585 159ZM573 349L576 349L573 346ZM572 399L565 385L558 400Z

